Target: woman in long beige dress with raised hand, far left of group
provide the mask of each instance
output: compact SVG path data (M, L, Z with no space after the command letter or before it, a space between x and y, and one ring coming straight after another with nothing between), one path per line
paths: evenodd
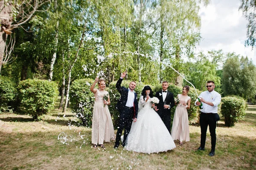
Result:
M99 89L94 88L98 83ZM105 149L103 141L109 142L114 140L115 133L108 105L111 103L108 92L105 90L106 81L104 79L95 78L94 83L90 87L94 93L95 103L93 105L93 122L92 122L92 144L93 148L102 147ZM104 100L103 96L108 95L108 100Z

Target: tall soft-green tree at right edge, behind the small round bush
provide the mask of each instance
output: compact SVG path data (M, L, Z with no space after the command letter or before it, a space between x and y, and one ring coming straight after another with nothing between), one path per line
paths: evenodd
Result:
M224 95L238 95L245 100L256 95L256 66L252 60L229 53L223 66Z

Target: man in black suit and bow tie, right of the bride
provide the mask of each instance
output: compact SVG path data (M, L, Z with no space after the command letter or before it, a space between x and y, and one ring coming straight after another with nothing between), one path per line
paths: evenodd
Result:
M175 101L173 94L167 90L169 84L167 81L163 81L162 90L156 93L156 97L159 99L159 104L155 107L163 123L166 125L169 133L171 134L171 108L174 107Z

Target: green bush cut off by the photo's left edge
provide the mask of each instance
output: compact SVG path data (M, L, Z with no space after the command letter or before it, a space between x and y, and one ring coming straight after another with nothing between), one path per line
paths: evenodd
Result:
M0 112L12 112L12 103L17 96L16 85L8 77L0 76Z

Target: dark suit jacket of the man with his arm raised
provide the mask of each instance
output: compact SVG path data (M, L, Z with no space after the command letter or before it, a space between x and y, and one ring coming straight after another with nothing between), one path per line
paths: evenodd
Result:
M119 80L116 82L116 89L119 91L119 93L121 94L119 100L117 101L116 104L116 109L119 111L120 113L120 118L125 118L128 115L125 115L124 112L120 112L121 110L123 110L125 108L125 104L127 102L127 98L128 98L128 89L126 89L124 86L121 87L121 83L122 83L122 78L119 78ZM134 118L137 118L138 115L138 101L137 101L137 93L134 92Z

